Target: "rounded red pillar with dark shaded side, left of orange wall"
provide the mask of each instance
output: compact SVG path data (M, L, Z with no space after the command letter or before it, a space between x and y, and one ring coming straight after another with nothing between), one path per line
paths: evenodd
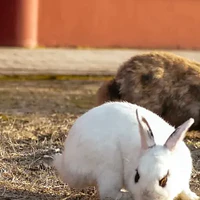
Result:
M38 0L0 0L0 45L36 46Z

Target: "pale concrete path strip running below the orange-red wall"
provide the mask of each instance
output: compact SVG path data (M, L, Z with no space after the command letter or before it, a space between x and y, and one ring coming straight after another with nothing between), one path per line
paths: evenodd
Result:
M0 48L0 74L113 75L135 49L21 49ZM170 51L200 62L200 51Z

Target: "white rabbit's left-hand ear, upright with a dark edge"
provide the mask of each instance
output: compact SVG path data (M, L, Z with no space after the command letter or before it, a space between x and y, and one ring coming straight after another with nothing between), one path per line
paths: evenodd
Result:
M138 109L136 110L136 116L139 123L139 132L141 137L142 149L148 149L155 146L154 136L147 120L139 114Z

